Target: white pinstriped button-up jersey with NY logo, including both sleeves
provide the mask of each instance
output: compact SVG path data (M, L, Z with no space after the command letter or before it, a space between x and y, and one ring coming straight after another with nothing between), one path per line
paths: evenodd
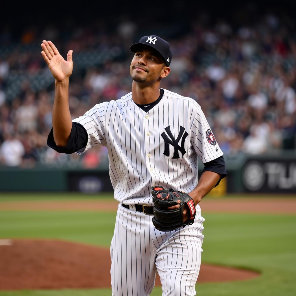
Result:
M88 134L86 147L75 153L107 146L114 198L127 205L153 205L155 185L191 192L198 182L197 158L206 163L223 155L200 105L166 89L148 112L130 92L72 121Z

